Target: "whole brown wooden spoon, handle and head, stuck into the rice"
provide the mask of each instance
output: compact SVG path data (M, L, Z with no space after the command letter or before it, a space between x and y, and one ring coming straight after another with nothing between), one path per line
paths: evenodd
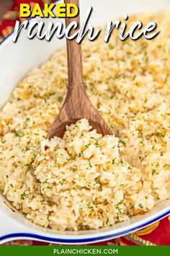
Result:
M65 4L76 4L79 7L79 0L65 0ZM80 25L79 15L74 18L66 18L66 27L73 21ZM78 30L79 28L77 28ZM75 30L76 31L76 30ZM74 32L75 32L74 31ZM63 103L61 112L55 119L53 126L49 129L47 138L54 136L63 137L66 125L75 124L82 118L89 120L93 129L97 129L102 135L112 135L111 129L107 126L98 111L92 106L86 95L83 81L83 67L81 58L81 45L76 40L67 40L68 59L68 93Z

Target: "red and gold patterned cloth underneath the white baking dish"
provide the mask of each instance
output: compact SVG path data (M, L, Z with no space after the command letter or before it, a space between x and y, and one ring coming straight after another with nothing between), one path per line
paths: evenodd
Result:
M15 21L19 20L19 4L28 3L34 7L35 3L43 4L53 2L53 0L14 0L12 9L4 14L3 20L0 21L0 42L12 33ZM1 2L0 2L1 4ZM43 242L17 240L4 245L51 245ZM158 221L146 229L142 229L125 237L112 239L107 242L96 243L95 245L170 245L170 216Z

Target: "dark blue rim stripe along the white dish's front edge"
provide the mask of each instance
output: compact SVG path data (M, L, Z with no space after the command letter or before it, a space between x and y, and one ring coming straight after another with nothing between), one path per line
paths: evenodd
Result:
M162 214L161 216L157 216L156 218L153 218L151 221L147 221L146 223L143 223L140 226L135 226L133 229L128 229L127 231L122 231L120 233L115 233L115 234L109 234L106 236L97 236L97 237L92 237L92 238L86 238L86 239L59 239L59 238L52 238L48 236L40 236L37 234L30 234L30 233L15 233L15 234L9 234L6 236L1 236L0 241L5 240L5 239L16 239L17 237L19 238L31 238L31 239L38 239L44 242L58 242L58 243L67 243L67 244L76 244L76 243L86 243L86 242L97 242L99 240L107 240L107 239L114 239L118 236L125 236L126 234L133 233L134 231L138 231L139 229L143 229L146 226L149 226L152 223L155 223L156 221L161 220L162 218L169 216L170 210L168 210L166 213ZM56 234L57 236L57 234Z

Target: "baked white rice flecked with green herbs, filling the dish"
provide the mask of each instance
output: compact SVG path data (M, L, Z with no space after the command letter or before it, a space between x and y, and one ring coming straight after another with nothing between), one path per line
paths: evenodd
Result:
M86 90L113 136L81 119L63 140L44 140L66 96L66 49L27 74L0 111L0 189L37 225L99 229L169 197L170 15L130 20L156 20L161 33L83 46Z

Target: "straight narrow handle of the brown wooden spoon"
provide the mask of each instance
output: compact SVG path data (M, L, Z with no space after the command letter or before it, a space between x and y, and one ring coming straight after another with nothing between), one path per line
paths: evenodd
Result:
M64 0L65 4L76 4L79 7L79 0ZM71 30L70 35L73 35L80 27L79 14L76 17L66 17L66 27L71 22L78 22L78 27ZM76 42L76 39L67 40L67 59L68 59L68 94L84 89L83 83L83 67L81 57L81 44Z

